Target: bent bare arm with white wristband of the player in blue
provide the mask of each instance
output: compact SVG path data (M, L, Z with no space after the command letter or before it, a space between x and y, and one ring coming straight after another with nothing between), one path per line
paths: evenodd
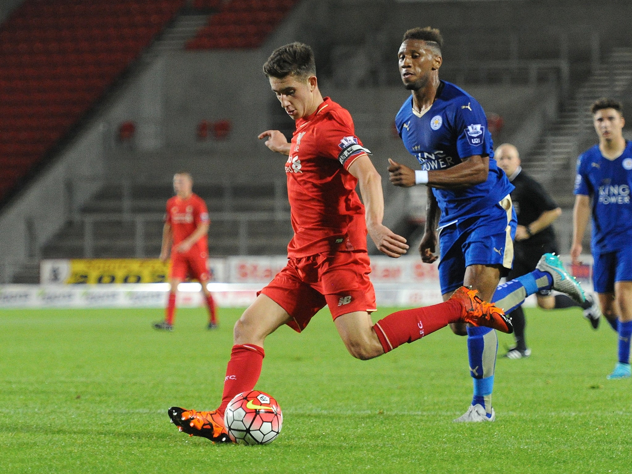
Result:
M463 158L456 166L428 171L428 175L418 183L415 171L408 166L389 159L389 181L395 186L407 188L415 184L427 184L439 189L468 188L487 181L489 156L473 155Z

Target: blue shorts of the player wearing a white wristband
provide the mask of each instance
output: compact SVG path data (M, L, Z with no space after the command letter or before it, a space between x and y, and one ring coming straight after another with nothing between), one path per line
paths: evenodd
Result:
M439 228L439 282L445 295L463 285L470 265L511 269L516 212L507 195L498 204ZM501 275L504 276L504 275Z

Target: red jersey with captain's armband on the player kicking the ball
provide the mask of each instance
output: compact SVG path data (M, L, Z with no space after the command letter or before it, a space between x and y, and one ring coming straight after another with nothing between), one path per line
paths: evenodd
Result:
M329 97L296 120L285 172L294 237L289 257L367 250L364 206L349 166L370 153L355 136L353 119Z

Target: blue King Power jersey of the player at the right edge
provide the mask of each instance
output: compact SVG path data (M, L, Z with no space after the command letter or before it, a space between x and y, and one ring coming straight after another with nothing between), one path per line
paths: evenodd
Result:
M620 157L604 158L599 145L577 160L575 194L592 197L592 249L606 253L629 247L632 241L632 142Z

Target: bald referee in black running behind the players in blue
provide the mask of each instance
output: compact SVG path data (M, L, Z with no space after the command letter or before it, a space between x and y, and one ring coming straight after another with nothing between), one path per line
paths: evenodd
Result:
M511 280L532 272L544 253L559 252L556 234L551 224L562 214L562 210L557 207L540 183L522 171L520 155L514 145L503 143L496 149L494 156L498 166L507 173L511 184L516 186L511 193L511 200L518 216L513 267L507 276L507 280ZM601 312L592 295L586 295L583 305L578 305L566 295L552 296L550 290L538 291L536 296L538 306L545 310L581 307L592 327L597 329L599 326ZM510 315L516 346L509 349L505 357L510 359L528 357L531 350L527 348L525 340L525 312L522 307L518 307Z

